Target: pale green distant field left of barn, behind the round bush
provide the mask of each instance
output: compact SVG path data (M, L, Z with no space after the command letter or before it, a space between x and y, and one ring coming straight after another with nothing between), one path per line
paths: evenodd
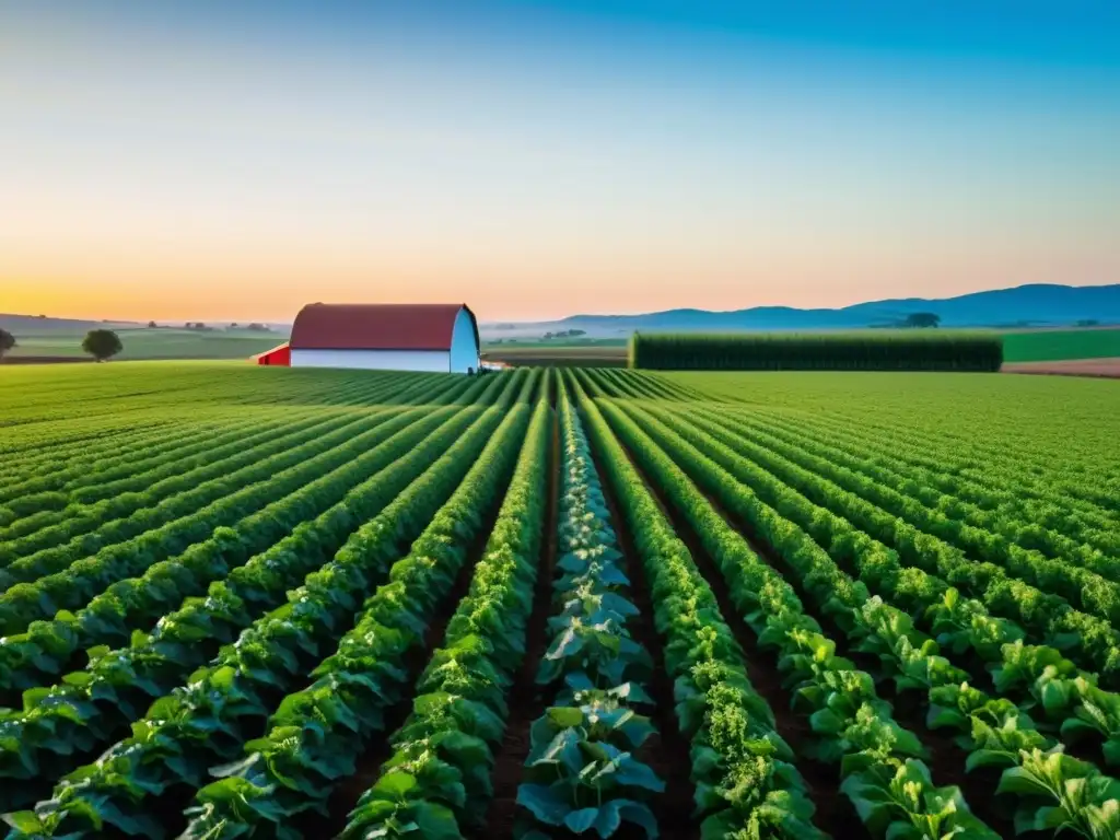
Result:
M199 332L170 327L158 329L137 327L118 328L114 332L124 345L124 351L115 357L119 360L249 358L287 339L287 336L280 334L261 335L248 329ZM88 358L82 352L83 338L85 332L20 330L16 333L16 348L7 355Z

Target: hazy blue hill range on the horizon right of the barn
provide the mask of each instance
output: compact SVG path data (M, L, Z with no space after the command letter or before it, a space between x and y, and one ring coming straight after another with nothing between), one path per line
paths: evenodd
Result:
M502 338L569 329L582 329L588 337L634 330L853 329L889 326L913 312L936 312L946 327L1066 326L1090 319L1120 324L1120 284L1019 286L955 298L875 300L840 309L769 306L725 312L670 309L646 315L573 315L541 324L484 325L482 330L486 337Z

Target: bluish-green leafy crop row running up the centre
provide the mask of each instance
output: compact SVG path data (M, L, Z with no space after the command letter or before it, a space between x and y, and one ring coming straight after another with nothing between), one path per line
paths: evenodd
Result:
M559 577L549 619L551 642L536 682L556 691L533 721L517 804L517 837L553 829L612 837L624 823L657 837L647 804L664 781L636 753L655 731L641 708L653 660L627 624L637 615L626 598L629 580L609 522L606 498L566 390L561 388Z

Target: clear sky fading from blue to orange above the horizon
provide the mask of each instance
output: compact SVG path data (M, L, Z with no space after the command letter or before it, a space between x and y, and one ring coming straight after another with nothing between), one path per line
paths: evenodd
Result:
M0 311L1120 282L1114 0L11 0Z

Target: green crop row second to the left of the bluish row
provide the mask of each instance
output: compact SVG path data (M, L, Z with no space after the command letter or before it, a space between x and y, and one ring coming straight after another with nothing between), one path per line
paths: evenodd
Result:
M409 699L409 659L421 653L439 607L486 535L525 438L531 410L519 403L388 584L362 606L338 651L311 671L314 682L288 694L263 738L244 747L242 760L212 769L220 781L203 787L188 838L237 837L267 828L277 838L301 836L295 820L308 811L329 814L335 784L354 774L386 713ZM454 713L457 697L429 699Z

